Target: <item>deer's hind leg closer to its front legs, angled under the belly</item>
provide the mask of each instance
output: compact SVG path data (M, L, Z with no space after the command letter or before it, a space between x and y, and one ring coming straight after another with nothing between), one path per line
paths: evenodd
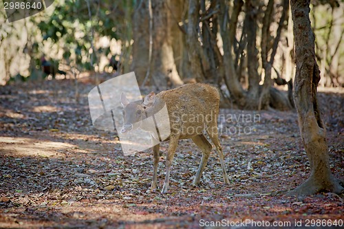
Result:
M193 179L193 184L198 185L200 184L200 180L202 177L202 173L204 168L206 167L206 162L208 162L209 155L211 154L211 144L206 140L203 134L197 135L191 138L195 144L200 147L202 151L202 160L200 162L200 166L197 169L197 173L195 175L195 179Z

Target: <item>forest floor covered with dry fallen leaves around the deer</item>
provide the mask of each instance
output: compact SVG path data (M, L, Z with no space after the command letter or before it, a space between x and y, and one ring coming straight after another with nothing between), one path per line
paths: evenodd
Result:
M70 80L0 87L0 228L343 225L343 195L275 195L309 175L295 111L221 109L230 184L223 183L213 149L200 186L193 186L202 154L180 140L169 193L162 195L168 144L160 147L158 192L149 193L151 151L125 156L116 132L92 126L87 94L93 87L80 83L78 102ZM344 179L344 91L321 92L319 102L331 170Z

